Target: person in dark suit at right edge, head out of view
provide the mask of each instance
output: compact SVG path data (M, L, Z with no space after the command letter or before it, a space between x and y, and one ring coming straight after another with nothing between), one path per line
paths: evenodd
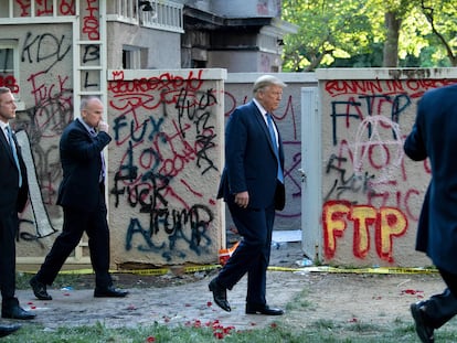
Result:
M425 194L416 249L427 254L447 288L411 306L422 342L457 314L457 85L428 90L419 100L404 151L414 161L429 159L432 181Z

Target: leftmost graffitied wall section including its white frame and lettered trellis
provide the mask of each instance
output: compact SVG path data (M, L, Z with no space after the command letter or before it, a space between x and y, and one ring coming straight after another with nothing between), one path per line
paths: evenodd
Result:
M17 99L12 126L22 146L30 184L30 202L20 214L19 264L40 264L62 229L62 210L56 205L62 180L59 141L77 116L75 99L81 93L106 93L102 87L105 73L100 78L105 61L99 49L104 31L100 3L0 2L0 85L9 87ZM68 262L88 261L86 242Z

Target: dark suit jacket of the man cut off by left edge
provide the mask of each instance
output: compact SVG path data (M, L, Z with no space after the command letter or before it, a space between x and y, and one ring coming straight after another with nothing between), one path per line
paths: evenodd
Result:
M29 183L26 179L26 169L22 159L21 147L15 140L19 164L22 173L22 186L19 187L19 171L15 167L14 158L11 152L4 133L0 132L0 213L4 215L11 211L22 212L25 207L29 196Z

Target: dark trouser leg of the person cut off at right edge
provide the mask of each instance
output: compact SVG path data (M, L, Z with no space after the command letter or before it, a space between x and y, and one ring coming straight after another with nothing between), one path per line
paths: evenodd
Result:
M434 329L440 328L457 314L457 275L438 270L447 288L443 293L425 301L426 321Z

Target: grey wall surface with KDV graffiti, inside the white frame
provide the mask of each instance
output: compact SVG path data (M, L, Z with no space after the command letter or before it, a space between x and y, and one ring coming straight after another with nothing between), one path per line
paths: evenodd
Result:
M2 25L0 41L11 41L19 74L1 85L17 98L12 122L30 172L30 199L20 216L18 259L36 260L49 251L62 224L56 193L62 170L59 138L73 118L72 24ZM12 57L12 56L11 56Z

